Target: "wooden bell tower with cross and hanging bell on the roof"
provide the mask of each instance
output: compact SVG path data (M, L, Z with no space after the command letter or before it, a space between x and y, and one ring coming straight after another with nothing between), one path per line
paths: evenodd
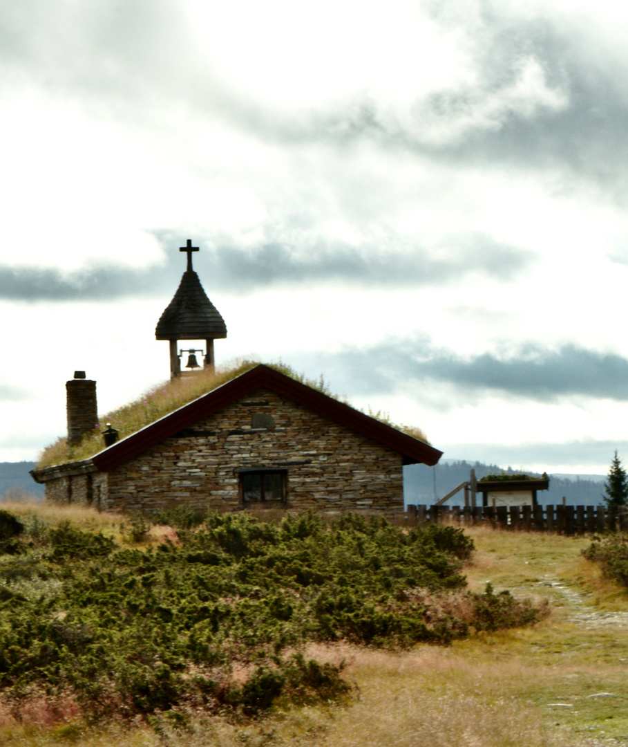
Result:
M187 240L180 252L187 254L187 267L172 301L166 306L155 329L157 340L170 341L170 376L181 375L181 356L188 353L185 368L194 371L198 365L196 353L203 357L202 368L214 367L214 340L227 337L227 326L216 306L207 298L198 275L192 269L192 241ZM180 340L204 341L205 347L179 349Z

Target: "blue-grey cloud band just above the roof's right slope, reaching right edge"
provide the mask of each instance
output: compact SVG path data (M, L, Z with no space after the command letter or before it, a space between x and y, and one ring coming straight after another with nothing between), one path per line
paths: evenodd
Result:
M301 356L301 361L313 364L308 356ZM577 345L549 350L530 344L509 356L483 353L462 358L434 347L428 338L408 338L317 355L316 361L338 388L357 394L392 394L400 384L433 381L459 391L546 402L576 396L628 400L628 359Z

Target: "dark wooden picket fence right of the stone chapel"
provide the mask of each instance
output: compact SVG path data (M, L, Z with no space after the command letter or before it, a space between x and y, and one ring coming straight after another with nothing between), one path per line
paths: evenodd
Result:
M406 524L429 521L559 534L628 531L628 506L407 506Z

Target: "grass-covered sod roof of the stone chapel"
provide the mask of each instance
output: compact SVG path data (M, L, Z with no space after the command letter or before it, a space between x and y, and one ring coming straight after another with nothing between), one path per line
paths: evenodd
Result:
M131 433L154 423L159 418L163 418L164 415L169 415L170 412L174 412L183 405L192 402L192 400L202 397L257 365L260 365L260 361L238 360L217 368L216 372L198 371L192 375L180 376L156 385L133 402L112 412L107 412L107 415L98 418L98 426L94 428L93 433L87 433L81 439L81 442L75 444L75 446L68 444L66 436L57 438L54 444L50 444L40 454L37 469L65 464L66 462L79 462L81 459L90 459L104 449L101 432L105 430L107 424L111 424L119 432L119 438L126 438L126 436L131 436ZM291 366L281 361L267 363L266 365L269 368L274 368L275 371L290 376L301 384L327 394L328 397L337 400L342 399L330 391L322 375L318 379L307 379L303 373L294 371ZM390 421L386 413L380 411L372 412L369 409L368 415L398 430L403 430L404 433L418 438L419 441L428 443L425 434L419 428L396 425Z

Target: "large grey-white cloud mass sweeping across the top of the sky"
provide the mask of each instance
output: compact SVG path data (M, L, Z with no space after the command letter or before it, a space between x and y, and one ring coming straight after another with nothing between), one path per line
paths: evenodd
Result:
M259 13L236 5L198 18L199 4L172 0L89 9L68 0L54 8L45 0L5 1L3 78L25 76L55 96L81 99L104 119L131 117L151 128L172 126L178 111L272 143L368 140L433 161L559 165L625 186L628 55L611 22L587 25L583 13L552 3L533 12L486 0L424 0L412 11L394 3L365 26L377 34L377 51L352 34L347 52L338 34L370 16L349 4L344 13L334 8L335 22L327 23L324 6L308 24L318 22L316 47L338 57L333 66L311 54L307 34L295 34L307 6L273 3ZM234 33L246 10L260 27ZM281 26L286 13L292 34ZM595 18L593 4L588 13ZM436 55L429 75L416 56L422 45ZM253 63L246 55L258 49ZM286 71L286 50L295 72ZM265 81L272 87L259 92Z

